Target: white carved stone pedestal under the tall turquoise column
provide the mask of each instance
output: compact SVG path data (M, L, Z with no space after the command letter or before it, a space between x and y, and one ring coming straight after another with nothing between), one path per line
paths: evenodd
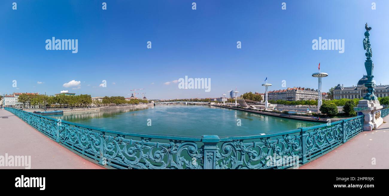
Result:
M364 114L363 130L371 131L373 128L378 128L383 119L381 118L381 109L383 106L377 100L360 100L358 106L354 108L357 115Z

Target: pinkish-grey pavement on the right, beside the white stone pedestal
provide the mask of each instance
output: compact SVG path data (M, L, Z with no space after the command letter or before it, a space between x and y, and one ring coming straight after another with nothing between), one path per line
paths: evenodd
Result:
M388 169L389 116L384 122L387 123L373 131L362 132L300 169Z

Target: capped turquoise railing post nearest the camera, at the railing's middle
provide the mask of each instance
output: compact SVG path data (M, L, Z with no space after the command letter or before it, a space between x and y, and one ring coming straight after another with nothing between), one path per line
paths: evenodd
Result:
M204 169L216 169L217 143L220 141L217 135L203 135L204 143L203 163Z

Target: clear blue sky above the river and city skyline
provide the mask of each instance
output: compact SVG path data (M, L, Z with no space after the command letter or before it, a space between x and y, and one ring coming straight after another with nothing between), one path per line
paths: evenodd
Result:
M16 2L17 10L12 10ZM107 10L102 10L102 2ZM196 10L192 10L196 2ZM286 10L281 3L286 2ZM220 97L231 88L273 86L323 90L356 85L363 74L364 24L370 33L377 83L389 85L389 1L374 0L85 0L0 2L0 93L69 90L125 96L145 88L151 99ZM46 50L46 39L78 39L78 53ZM312 40L344 39L344 53L312 50ZM152 49L147 49L147 42ZM242 48L237 49L237 41ZM211 78L211 91L179 89L179 78ZM17 87L12 87L12 81ZM77 87L63 87L69 81ZM102 80L107 87L98 87ZM42 82L38 84L37 82ZM113 84L115 83L115 84ZM77 88L77 89L72 89Z

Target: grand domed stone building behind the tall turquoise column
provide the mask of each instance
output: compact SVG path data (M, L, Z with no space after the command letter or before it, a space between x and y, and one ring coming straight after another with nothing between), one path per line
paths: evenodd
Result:
M336 85L334 89L334 99L360 99L367 93L367 87L364 83L367 81L367 75L363 75L359 79L356 86L352 87L343 87L343 85ZM377 85L374 88L374 94L377 97L386 97L389 96L389 85Z

